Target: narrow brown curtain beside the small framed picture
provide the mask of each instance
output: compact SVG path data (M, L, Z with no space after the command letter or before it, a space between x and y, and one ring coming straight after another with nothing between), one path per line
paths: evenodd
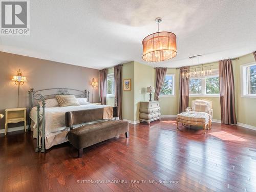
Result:
M114 67L114 79L115 79L115 105L118 106L119 119L122 120L122 68L123 65Z

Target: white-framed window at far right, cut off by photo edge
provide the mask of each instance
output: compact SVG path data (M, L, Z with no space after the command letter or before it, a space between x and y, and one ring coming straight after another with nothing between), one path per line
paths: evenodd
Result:
M256 63L241 66L241 96L256 97Z

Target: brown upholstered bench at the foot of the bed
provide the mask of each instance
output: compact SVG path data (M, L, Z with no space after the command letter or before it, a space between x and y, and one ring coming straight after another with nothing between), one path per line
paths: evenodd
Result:
M114 117L118 117L118 108L113 107ZM78 149L78 157L82 156L83 148L101 141L111 139L125 133L129 137L129 123L127 121L109 120L92 124L86 124L72 129L75 124L102 120L103 109L90 109L66 112L66 126L70 127L68 133L69 142Z

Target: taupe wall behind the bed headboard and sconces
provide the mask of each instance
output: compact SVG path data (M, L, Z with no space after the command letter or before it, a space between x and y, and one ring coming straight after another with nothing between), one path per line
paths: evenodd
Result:
M85 61L86 62L86 61ZM73 88L91 92L92 78L99 80L99 70L68 65L49 60L0 52L0 113L6 108L17 107L17 86L11 80L20 69L27 77L27 82L20 86L19 106L28 107L28 90L49 88ZM98 88L94 90L94 102L99 102ZM4 128L4 119L0 119L0 129ZM10 127L20 124L10 124Z

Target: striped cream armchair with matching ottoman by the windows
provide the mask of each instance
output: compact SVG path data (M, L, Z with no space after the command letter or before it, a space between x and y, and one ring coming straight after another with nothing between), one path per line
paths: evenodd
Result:
M177 129L178 122L186 125L202 125L205 129L211 129L213 110L212 102L206 99L196 99L191 101L191 107L187 108L185 112L177 115Z

